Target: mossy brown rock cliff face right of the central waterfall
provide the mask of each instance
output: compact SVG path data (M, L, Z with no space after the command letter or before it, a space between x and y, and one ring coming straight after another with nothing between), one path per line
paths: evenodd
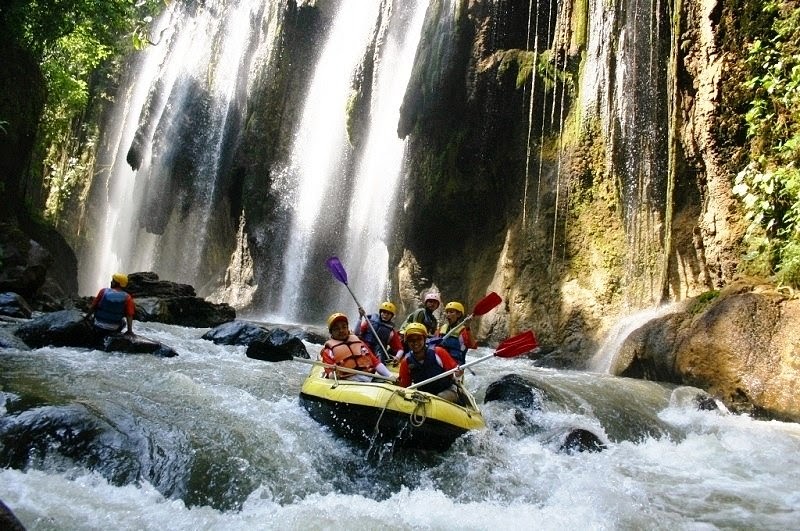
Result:
M399 128L404 303L494 289L482 335L530 327L580 360L620 316L733 280L735 6L618 4L431 3Z

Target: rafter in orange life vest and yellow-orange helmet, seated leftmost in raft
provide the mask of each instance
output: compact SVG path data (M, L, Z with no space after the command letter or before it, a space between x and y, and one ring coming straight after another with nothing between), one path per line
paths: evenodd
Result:
M329 365L339 365L348 369L355 369L362 372L378 373L381 376L394 377L386 365L373 354L370 348L355 334L350 333L350 325L347 316L343 313L334 313L328 317L328 331L331 338L325 342L320 352L320 357L324 363ZM340 379L347 379L355 382L371 382L372 378L366 374L354 374L347 371L339 371L327 367L325 376L333 378L335 375Z

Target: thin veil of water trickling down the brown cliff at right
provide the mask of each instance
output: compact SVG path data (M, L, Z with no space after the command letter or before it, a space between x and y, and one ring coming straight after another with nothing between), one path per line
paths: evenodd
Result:
M580 112L584 124L601 125L606 168L620 183L631 248L628 280L644 279L652 269L648 261L663 252L669 152L666 9L662 2L623 2L611 10L603 1L588 3ZM632 299L660 300L655 278L642 284L649 289L631 293Z

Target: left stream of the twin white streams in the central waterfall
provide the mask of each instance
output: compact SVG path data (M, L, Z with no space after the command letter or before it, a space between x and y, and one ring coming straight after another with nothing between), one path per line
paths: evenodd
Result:
M279 311L289 321L308 315L304 289L317 238L344 237L349 208L351 150L347 103L353 75L370 42L379 4L344 2L333 22L305 97L288 167L278 186L293 207L290 243L284 257ZM339 230L336 230L339 229ZM329 236L330 235L330 236ZM321 269L322 263L318 264Z

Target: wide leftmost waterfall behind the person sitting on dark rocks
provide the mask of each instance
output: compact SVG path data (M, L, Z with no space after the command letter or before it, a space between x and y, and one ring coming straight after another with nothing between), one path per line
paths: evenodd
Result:
M279 2L171 3L131 65L99 150L97 235L82 292L115 270L204 284L219 185L256 64L270 54ZM106 170L107 169L107 170Z

